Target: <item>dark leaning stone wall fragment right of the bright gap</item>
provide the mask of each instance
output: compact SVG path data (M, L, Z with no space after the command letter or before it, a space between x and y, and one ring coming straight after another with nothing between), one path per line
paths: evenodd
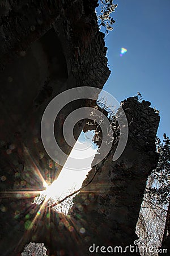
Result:
M116 162L112 162L117 144L114 145L92 183L75 197L70 210L71 217L86 228L83 236L88 241L84 255L92 243L96 246L122 246L124 249L134 246L137 240L135 226L147 177L158 162L155 135L159 115L150 108L150 102L143 100L140 103L135 97L123 101L122 108L129 123L125 151ZM95 168L83 184L94 172ZM126 255L129 254L127 251Z

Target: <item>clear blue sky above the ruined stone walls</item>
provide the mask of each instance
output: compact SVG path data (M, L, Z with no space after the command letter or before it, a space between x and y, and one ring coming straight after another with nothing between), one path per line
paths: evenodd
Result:
M170 0L115 0L114 30L105 38L112 73L104 86L118 101L135 96L160 110L158 136L170 136ZM128 51L121 57L121 47Z

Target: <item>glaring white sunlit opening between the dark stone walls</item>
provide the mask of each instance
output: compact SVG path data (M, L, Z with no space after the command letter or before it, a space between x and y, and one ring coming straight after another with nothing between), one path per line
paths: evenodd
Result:
M92 160L94 159L95 154L97 154L98 148L96 144L92 142L93 137L94 131L88 131L85 134L82 132L66 161L66 164L70 163L70 165L74 167L74 158L84 159L86 160L86 166L88 165L88 168L83 168L83 160L83 170L76 170L77 166L75 166L75 169L72 168L71 170L63 166L57 180L54 180L53 183L50 185L45 184L46 189L41 192L40 198L44 198L45 201L51 201L52 203L54 203L56 201L62 200L64 197L70 195L70 193L76 191L82 186L82 183L84 179L86 179L88 171L91 170ZM83 150L80 149L81 145L83 146ZM86 156L89 155L91 155L91 157L87 158L87 163ZM81 166L79 166L79 168L81 168ZM36 200L37 204L40 204L39 200ZM63 206L66 209L65 205ZM58 210L59 212L63 212L62 207L57 206L56 210ZM64 213L67 213L68 210L69 208L67 208Z

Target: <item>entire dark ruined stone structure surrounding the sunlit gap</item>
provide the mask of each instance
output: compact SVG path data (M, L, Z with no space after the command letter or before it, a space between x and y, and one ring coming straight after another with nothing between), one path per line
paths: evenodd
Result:
M122 105L129 122L124 153L112 162L114 145L91 184L76 195L68 216L32 204L36 191L44 189L40 174L53 181L61 170L41 143L40 122L46 105L76 86L102 89L109 76L96 6L96 0L6 0L0 4L2 256L20 255L29 242L44 243L48 255L92 255L88 247L93 243L129 246L137 238L135 225L147 176L158 160L159 123L150 103L137 98ZM56 140L67 154L71 149L63 140L62 122L86 104L66 106L56 119ZM83 127L83 121L75 127L75 138ZM22 189L28 192L14 193Z

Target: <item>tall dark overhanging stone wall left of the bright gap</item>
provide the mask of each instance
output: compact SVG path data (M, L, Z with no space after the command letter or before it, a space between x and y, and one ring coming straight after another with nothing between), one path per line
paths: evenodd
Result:
M96 6L96 0L0 3L1 255L18 255L33 214L35 193L13 192L42 191L40 174L52 182L61 170L41 143L46 106L64 90L83 85L103 88L108 79L107 48L97 26ZM66 106L55 123L56 140L68 155L71 148L63 139L62 124L79 106L86 102ZM80 121L75 138L82 129ZM6 191L12 193L4 195Z

